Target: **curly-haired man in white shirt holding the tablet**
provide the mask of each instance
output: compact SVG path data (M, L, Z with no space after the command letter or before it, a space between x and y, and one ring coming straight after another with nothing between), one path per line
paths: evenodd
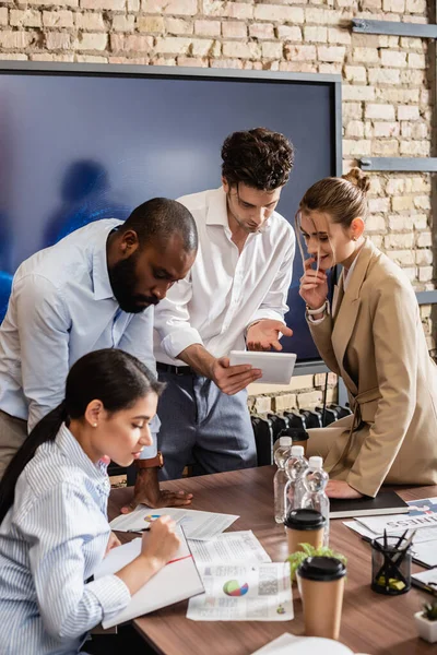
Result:
M261 376L229 366L232 349L281 349L295 236L274 210L293 166L282 134L235 132L222 148L223 187L179 199L194 217L190 274L155 310L158 444L164 477L194 462L200 473L256 466L246 386ZM245 343L246 342L246 343ZM141 498L137 487L137 500Z

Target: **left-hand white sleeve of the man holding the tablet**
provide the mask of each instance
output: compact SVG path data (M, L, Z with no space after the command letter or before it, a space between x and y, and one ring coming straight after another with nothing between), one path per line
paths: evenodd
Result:
M193 344L203 345L202 338L190 325L188 303L191 300L190 277L180 279L155 307L155 329L160 335L161 347L169 356L177 356Z

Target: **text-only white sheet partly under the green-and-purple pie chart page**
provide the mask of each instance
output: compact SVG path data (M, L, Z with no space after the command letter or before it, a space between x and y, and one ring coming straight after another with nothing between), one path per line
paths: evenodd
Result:
M223 533L210 541L190 539L190 549L198 565L272 561L251 529Z

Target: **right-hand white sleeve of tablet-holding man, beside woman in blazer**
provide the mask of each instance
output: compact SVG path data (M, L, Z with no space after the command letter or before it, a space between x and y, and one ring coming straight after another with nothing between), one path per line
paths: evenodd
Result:
M285 251L284 260L280 266L277 275L274 278L269 291L265 294L258 310L253 313L248 322L248 326L255 321L259 321L261 319L283 321L285 313L288 311L286 300L293 276L293 260L295 253L294 231L291 230L286 238L290 239L290 245Z

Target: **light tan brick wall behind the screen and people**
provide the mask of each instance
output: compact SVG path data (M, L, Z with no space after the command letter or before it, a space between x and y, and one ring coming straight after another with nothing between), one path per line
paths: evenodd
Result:
M427 41L352 34L352 17L428 20L425 0L2 0L0 58L340 73L345 168L363 155L428 156ZM417 289L434 288L428 175L374 174L367 227ZM253 404L274 390L251 392ZM282 393L311 406L320 380Z

